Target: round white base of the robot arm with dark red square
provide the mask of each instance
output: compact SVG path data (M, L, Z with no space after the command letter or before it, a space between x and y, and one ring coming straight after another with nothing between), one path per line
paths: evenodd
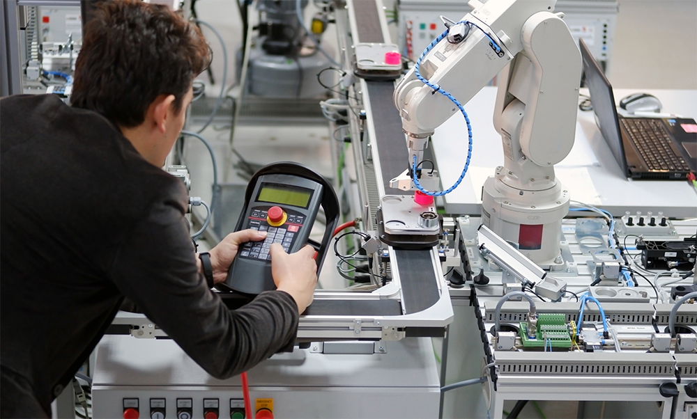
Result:
M523 255L543 269L564 269L560 235L569 199L560 182L543 191L523 191L492 176L484 182L482 223L517 244Z

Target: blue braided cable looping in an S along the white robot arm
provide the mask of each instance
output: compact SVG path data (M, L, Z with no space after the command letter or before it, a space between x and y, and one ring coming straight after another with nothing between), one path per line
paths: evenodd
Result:
M489 40L491 40L491 45L492 45L493 49L496 50L497 53L501 51L501 47L499 47L498 43L495 40L493 40L493 38L491 38L491 36L489 36L489 34L487 32L485 32L482 28L480 28L476 24L473 24L472 22L468 22L466 20L461 20L460 22L457 22L457 24L468 24L470 26L475 26L475 28L482 31L482 33L484 33L484 35L487 38L489 38ZM433 49L433 47L438 45L438 42L441 42L441 40L443 40L443 38L445 38L447 36L448 31L450 31L450 28L443 31L443 33L441 33L441 35L439 35L438 38L433 40L433 42L431 42L431 44L428 47L426 47L426 49L424 49L424 52L422 52L421 56L419 57L419 59L416 61L415 65L414 65L414 74L416 75L416 78L419 79L423 84L434 89L434 93L438 92L438 93L441 93L441 95L447 97L447 99L450 100L450 102L452 102L455 106L457 106L457 109L460 110L460 112L462 113L462 116L465 117L465 122L467 124L467 137L468 137L467 159L465 161L464 168L462 168L462 173L460 174L460 177L458 177L457 181L455 182L455 184L452 185L452 187L446 189L445 191L432 192L432 191L427 191L426 189L424 189L421 186L421 184L419 183L417 173L416 173L416 165L418 164L418 162L416 161L416 156L414 156L414 162L413 162L413 166L412 166L412 170L411 170L411 175L412 175L414 184L419 191L421 191L422 193L429 195L429 196L443 196L447 193L454 191L454 189L459 186L460 182L462 182L465 175L467 174L467 169L470 166L470 159L472 158L472 125L470 125L470 118L467 116L467 112L465 111L464 107L450 93L447 93L445 90L443 90L441 88L441 86L438 86L437 84L432 84L430 81L425 79L419 71L419 68L421 66L421 62L423 61L426 54L428 54L429 51L431 51L431 49Z

